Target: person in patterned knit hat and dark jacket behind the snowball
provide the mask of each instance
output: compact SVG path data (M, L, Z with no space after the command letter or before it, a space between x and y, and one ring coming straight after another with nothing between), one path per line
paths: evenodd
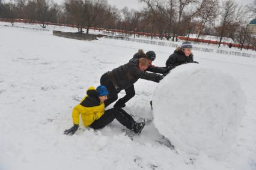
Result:
M190 42L184 42L181 44L181 47L177 49L169 56L165 65L166 67L175 67L180 64L186 64L188 62L195 62L192 53L192 44Z

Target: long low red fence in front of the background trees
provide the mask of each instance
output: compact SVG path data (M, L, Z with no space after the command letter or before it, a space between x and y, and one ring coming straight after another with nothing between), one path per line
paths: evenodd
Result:
M1 19L0 21L2 22L11 22L10 19ZM68 26L68 27L76 27L76 25L69 25L69 24L62 24L62 23L52 23L52 22L40 22L40 21L36 21L36 20L28 20L28 19L14 19L14 22L19 22L19 23L32 23L32 24L46 24L46 25L56 25L56 26ZM87 29L87 27L85 26L84 29ZM120 30L120 29L104 29L104 28L96 28L96 27L89 27L89 29L93 29L93 30L97 30L97 31L112 31L112 32L119 32L122 34L136 34L136 35L143 35L143 36L148 36L148 37L160 37L160 34L151 34L148 32L137 32L137 31L125 31L125 30ZM178 36L178 38L180 40L188 40L188 41L197 41L197 38L187 38L187 37L181 37ZM198 40L200 43L208 43L208 44L219 44L218 41L212 41L212 40L204 40L204 39L199 39ZM221 44L226 44L227 46L230 45L230 43L225 43L225 42L221 42ZM232 47L242 47L241 44L232 44ZM243 46L243 48L245 49L252 49L254 50L255 47L254 46Z

